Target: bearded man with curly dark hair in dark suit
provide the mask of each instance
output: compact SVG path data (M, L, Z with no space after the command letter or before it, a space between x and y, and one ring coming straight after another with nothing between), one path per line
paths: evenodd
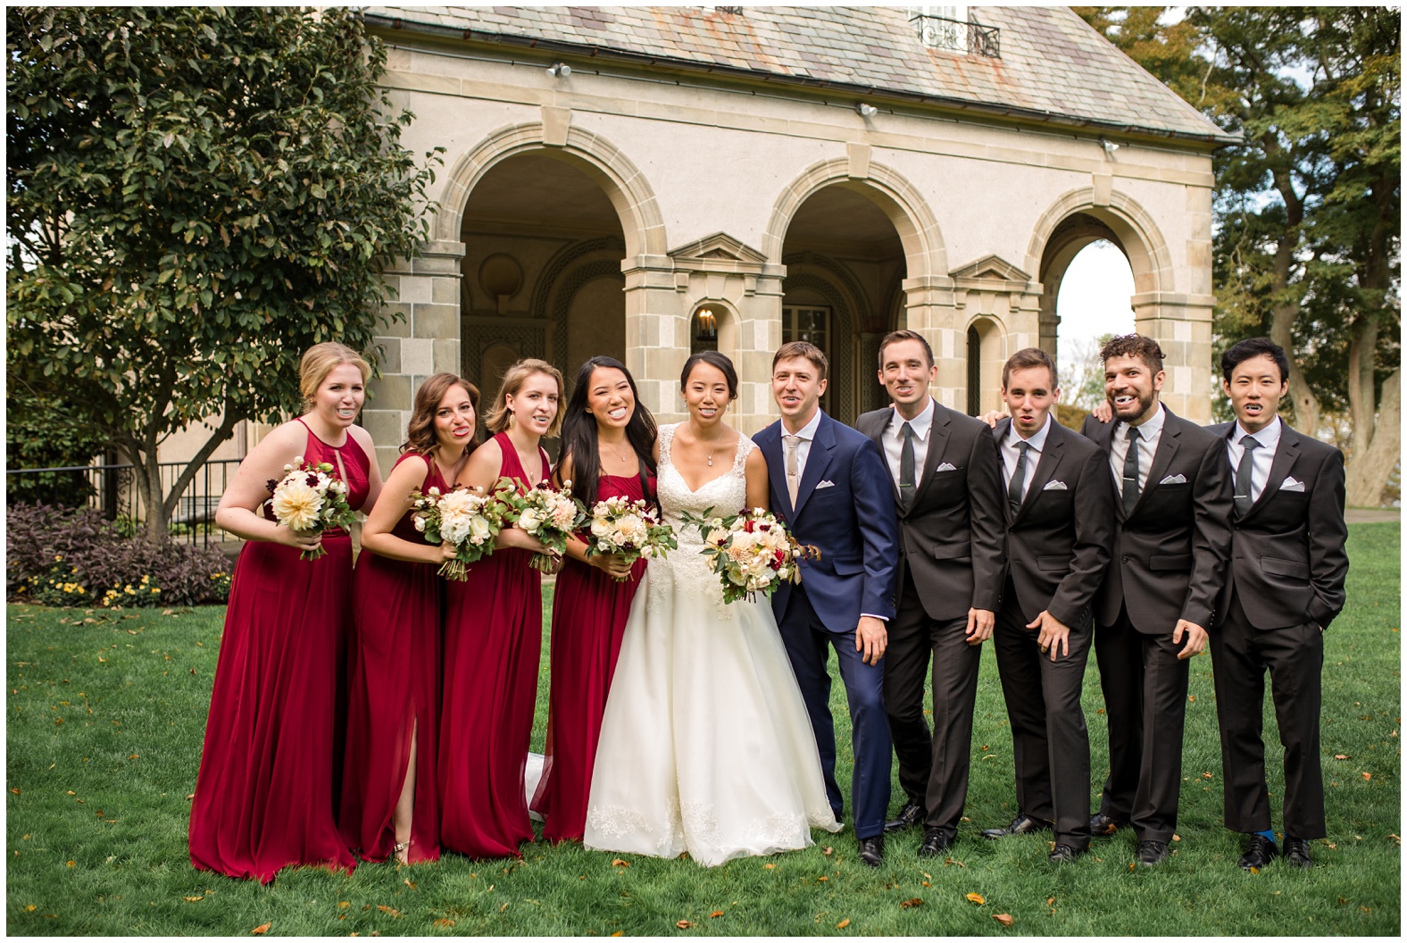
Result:
M1109 571L1095 597L1095 659L1109 719L1109 780L1095 835L1133 823L1158 864L1178 825L1188 659L1220 622L1231 556L1225 439L1158 401L1162 349L1137 334L1099 352L1114 422L1082 432L1109 455L1117 491Z

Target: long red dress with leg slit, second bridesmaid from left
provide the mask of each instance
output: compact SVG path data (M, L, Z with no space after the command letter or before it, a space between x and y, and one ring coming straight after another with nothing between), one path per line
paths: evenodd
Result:
M426 464L424 491L449 491L431 456L407 452L395 463ZM407 512L394 536L425 543ZM348 740L338 826L367 861L395 846L391 814L415 750L415 806L409 860L439 860L440 608L445 581L433 563L411 563L363 549L352 574L356 631L348 650Z

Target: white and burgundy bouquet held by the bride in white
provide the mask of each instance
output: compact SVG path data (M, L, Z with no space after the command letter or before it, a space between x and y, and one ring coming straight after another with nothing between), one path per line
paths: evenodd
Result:
M801 562L820 559L815 546L802 546L781 521L761 508L743 508L726 518L685 514L685 522L699 528L704 549L723 584L723 602L753 601L768 595L782 583L801 583Z

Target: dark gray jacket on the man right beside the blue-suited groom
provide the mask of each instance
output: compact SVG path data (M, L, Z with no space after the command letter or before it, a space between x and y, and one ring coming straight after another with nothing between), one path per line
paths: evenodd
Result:
M874 410L855 419L855 428L884 455L884 436L895 417L889 407ZM944 463L953 467L938 472ZM912 570L919 600L933 619L965 618L969 608L1000 608L1006 495L992 429L934 401L929 452L909 508L902 507L888 460L885 472L899 505L896 586L902 588L905 573Z

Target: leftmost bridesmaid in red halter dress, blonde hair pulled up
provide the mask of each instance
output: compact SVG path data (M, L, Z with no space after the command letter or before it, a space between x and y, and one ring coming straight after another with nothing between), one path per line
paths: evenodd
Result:
M266 483L301 456L329 462L353 508L376 501L371 436L352 425L370 372L340 343L310 348L300 367L304 415L266 435L219 498L215 524L248 543L235 564L190 811L190 861L200 870L267 884L290 864L349 873L356 864L333 815L352 538L276 524ZM325 556L300 559L319 543Z

